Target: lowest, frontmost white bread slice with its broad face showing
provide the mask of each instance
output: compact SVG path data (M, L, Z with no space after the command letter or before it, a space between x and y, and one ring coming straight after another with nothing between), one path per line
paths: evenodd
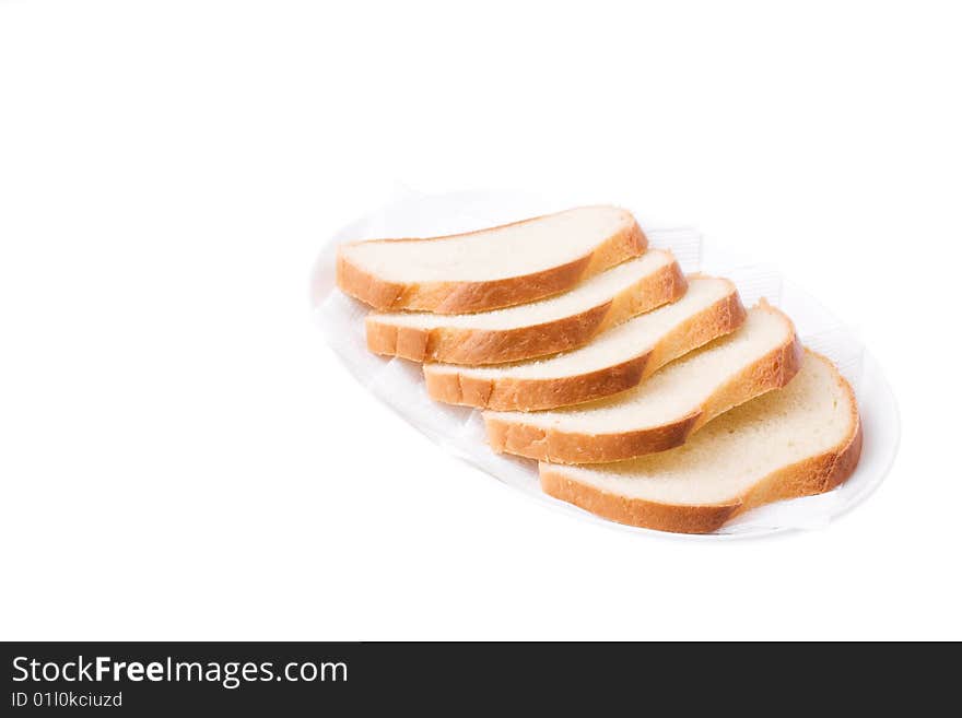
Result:
M722 414L688 444L597 467L541 463L541 487L622 523L706 533L762 504L834 489L860 452L852 388L806 352L788 386Z

